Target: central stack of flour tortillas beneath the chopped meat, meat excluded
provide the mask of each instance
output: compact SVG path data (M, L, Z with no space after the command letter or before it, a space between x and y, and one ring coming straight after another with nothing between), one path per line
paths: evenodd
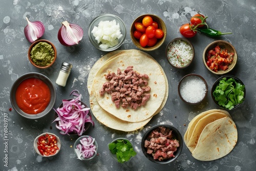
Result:
M149 76L147 86L151 87L150 99L138 109L116 108L111 95L100 96L99 91L105 75L122 72L129 66L140 74ZM102 56L92 67L87 83L90 94L90 106L95 118L105 126L115 130L130 132L143 127L158 114L168 98L167 77L159 63L149 54L139 50L117 50Z

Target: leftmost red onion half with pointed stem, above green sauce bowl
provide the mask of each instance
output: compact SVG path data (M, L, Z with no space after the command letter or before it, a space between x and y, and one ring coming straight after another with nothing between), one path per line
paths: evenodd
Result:
M28 21L28 25L24 28L25 37L29 42L34 42L38 38L40 38L45 33L45 26L42 22L30 22L30 20L26 17Z

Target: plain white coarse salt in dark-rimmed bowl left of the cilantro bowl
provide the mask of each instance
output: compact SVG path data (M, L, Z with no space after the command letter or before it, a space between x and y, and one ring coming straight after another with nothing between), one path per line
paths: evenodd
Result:
M185 77L180 85L181 97L189 103L197 103L203 100L206 94L204 81L197 76Z

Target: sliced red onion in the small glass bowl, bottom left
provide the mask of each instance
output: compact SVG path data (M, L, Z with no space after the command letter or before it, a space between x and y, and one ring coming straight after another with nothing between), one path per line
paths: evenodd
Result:
M93 157L93 155L96 154L96 145L94 145L94 142L95 138L82 138L80 144L77 144L75 148L77 158L82 160L81 157L85 159Z

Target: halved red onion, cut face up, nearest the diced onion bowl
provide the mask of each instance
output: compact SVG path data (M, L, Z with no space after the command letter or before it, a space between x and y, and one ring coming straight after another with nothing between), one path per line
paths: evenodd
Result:
M58 32L59 42L64 46L72 46L79 43L83 36L83 30L76 24L69 24L67 21L61 23Z

